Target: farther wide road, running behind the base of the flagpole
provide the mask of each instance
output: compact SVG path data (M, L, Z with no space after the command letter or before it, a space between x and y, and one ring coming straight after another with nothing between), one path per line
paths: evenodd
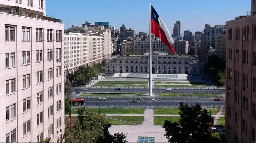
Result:
M87 91L82 91L82 89L77 89L79 93L94 93L94 92L106 92L106 93L113 93L113 92L120 92L120 93L148 93L148 89L121 89L121 91L116 91L115 89L109 88L100 88L100 89L90 89L88 88ZM225 89L172 89L173 93L222 93L225 92ZM170 93L167 92L165 89L153 89L153 93Z

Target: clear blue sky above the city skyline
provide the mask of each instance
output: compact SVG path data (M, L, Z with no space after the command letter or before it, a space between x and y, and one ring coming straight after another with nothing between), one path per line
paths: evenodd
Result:
M149 0L93 0L101 5L149 24ZM62 19L65 29L71 25L108 21L116 29L125 24L137 32L148 32L149 27L91 0L47 0L46 14ZM235 16L247 15L250 0L151 0L158 15L173 32L175 21L181 21L181 33L188 29L202 31L206 23L211 26L225 24Z

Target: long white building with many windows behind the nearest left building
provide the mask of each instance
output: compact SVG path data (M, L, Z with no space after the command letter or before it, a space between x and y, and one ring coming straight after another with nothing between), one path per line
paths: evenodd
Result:
M104 38L102 34L68 33L64 35L65 78L80 66L93 66L103 62Z

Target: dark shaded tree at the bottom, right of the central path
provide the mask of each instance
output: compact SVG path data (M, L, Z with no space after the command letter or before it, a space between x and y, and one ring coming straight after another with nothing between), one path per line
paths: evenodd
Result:
M184 105L180 102L179 122L165 121L164 134L169 142L211 142L210 132L213 118L207 114L207 110L202 110L199 104L194 106Z

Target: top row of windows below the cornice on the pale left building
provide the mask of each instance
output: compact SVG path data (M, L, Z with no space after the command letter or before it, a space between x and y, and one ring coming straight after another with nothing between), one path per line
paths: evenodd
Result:
M15 41L16 27L6 25L5 26L5 41ZM43 41L44 29L36 29L36 40ZM46 31L47 41L53 41L53 30L47 29ZM56 41L61 41L61 30L56 30ZM22 41L31 41L31 28L22 27Z

